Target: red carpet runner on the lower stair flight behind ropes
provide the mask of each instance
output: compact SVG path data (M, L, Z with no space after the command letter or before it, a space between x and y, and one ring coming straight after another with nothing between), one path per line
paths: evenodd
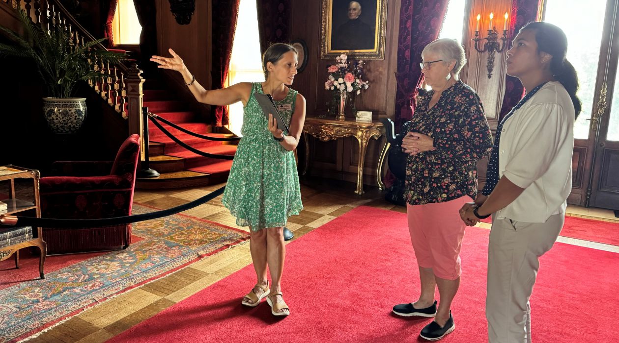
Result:
M179 101L176 96L163 89L157 81L147 81L144 91L144 106L149 107L149 111L159 115L162 118L169 120L183 128L199 134L207 134L214 137L225 137L225 134L209 133L212 131L209 124L204 123L204 120L198 117L197 114L189 110L188 104ZM163 124L170 133L176 138L183 141L189 146L195 147L210 154L234 155L236 145L222 144L220 141L209 141L202 138L196 138L182 131L171 128L169 125ZM155 125L149 125L149 139L154 143L163 143L163 154L183 158L184 170L196 171L199 173L210 174L211 183L225 182L232 167L231 160L210 159L194 152L188 151L176 144L171 138L166 136L163 131L159 130Z

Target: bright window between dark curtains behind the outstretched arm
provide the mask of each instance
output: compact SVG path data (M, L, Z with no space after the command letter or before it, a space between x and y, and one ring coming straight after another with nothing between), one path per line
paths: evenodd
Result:
M226 86L239 82L264 81L260 38L258 36L258 12L255 0L241 0L236 20L236 31L232 43L232 57ZM230 121L228 129L241 135L243 126L243 103L236 102L228 107Z

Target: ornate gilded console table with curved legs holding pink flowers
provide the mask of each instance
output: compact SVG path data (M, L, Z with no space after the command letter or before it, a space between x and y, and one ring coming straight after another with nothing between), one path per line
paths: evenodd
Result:
M303 135L305 138L305 167L303 168L303 175L305 175L309 167L308 134L311 134L323 142L350 136L357 138L359 143L359 160L357 164L357 190L355 194L363 194L363 165L365 163L365 152L371 138L378 139L380 136L385 135L383 123L358 123L352 120L339 121L327 118L307 117L303 125L303 133L305 133ZM376 183L378 183L378 189L381 191L385 189L383 183L383 162L390 145L386 138L384 141L383 150L381 150L378 157L378 170L376 171Z

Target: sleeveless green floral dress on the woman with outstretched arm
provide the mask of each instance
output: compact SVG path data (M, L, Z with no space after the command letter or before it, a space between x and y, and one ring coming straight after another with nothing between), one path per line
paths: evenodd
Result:
M243 110L241 139L230 169L222 203L236 217L236 225L252 231L285 226L288 217L303 210L295 155L273 139L254 93L262 92L262 83L251 88ZM290 89L279 112L290 125L295 112L297 91ZM287 134L287 133L284 133Z

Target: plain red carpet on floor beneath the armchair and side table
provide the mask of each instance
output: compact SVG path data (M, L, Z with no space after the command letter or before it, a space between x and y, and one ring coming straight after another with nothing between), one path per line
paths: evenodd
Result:
M143 238L132 235L131 243L142 241ZM38 254L38 249L36 249ZM45 258L45 274L61 270L76 263L88 260L92 257L106 254L106 252L89 252L85 254L54 255ZM24 281L39 279L39 255L30 254L30 249L19 250L19 269L15 269L15 258L0 262L0 289L14 286Z

